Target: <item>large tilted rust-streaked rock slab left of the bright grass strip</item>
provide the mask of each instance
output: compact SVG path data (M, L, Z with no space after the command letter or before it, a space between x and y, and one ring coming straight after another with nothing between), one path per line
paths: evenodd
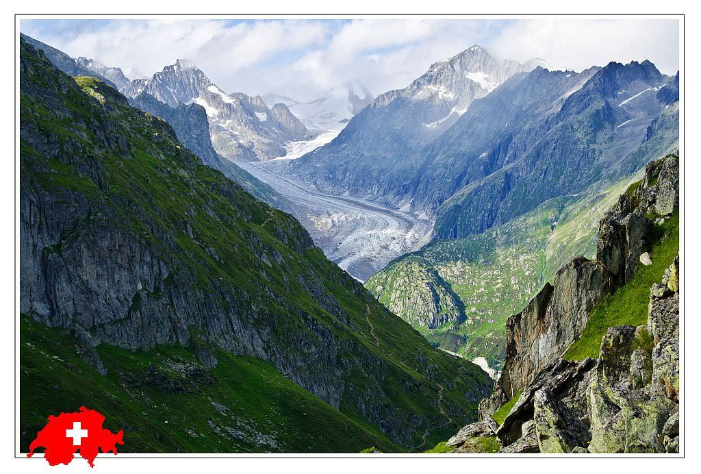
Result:
M506 362L500 384L508 398L531 384L557 360L587 325L591 309L610 292L608 271L577 257L560 269L553 284L507 321Z

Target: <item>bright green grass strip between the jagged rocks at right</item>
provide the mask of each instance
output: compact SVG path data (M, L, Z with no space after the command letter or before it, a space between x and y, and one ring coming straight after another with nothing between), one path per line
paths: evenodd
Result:
M679 212L662 225L653 224L647 250L653 263L649 266L638 263L633 279L594 308L582 336L570 346L564 358L598 358L601 339L609 327L646 325L650 287L662 280L665 270L679 254Z

